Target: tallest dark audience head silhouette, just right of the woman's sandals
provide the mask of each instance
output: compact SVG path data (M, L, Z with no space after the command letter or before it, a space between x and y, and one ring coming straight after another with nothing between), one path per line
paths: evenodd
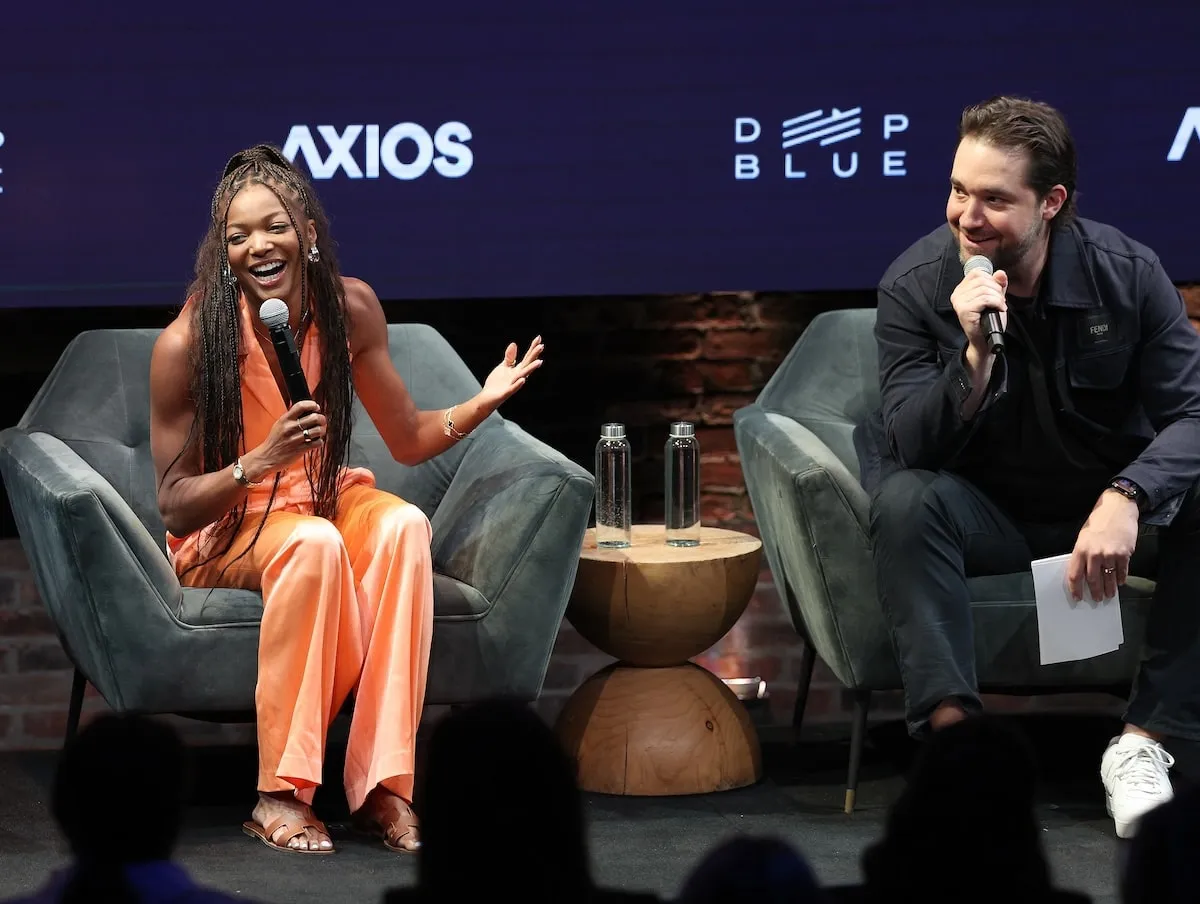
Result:
M554 732L488 700L433 730L421 795L420 885L436 896L574 900L590 887L583 802Z

